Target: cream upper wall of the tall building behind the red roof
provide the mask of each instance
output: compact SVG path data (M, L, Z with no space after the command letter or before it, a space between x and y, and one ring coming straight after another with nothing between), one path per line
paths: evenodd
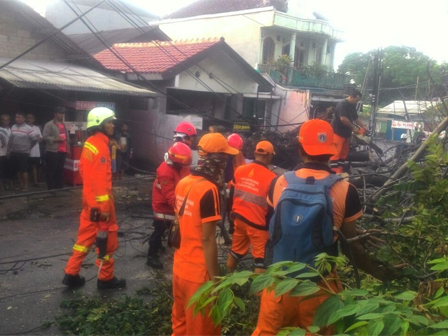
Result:
M214 18L163 22L160 29L173 40L224 37L240 56L255 67L260 56L261 27L271 26L274 11Z

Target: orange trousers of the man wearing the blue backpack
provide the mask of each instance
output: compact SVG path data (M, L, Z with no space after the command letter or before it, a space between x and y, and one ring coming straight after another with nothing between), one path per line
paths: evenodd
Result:
M335 278L334 274L329 278ZM342 291L342 285L339 280L327 280L330 288L339 293ZM328 288L324 283L319 283L320 287ZM280 329L285 327L306 327L313 325L313 318L316 309L330 295L324 290L320 290L313 295L312 298L304 298L303 296L288 296L287 294L274 297L273 290L263 291L261 296L260 313L258 315L257 328L252 336L259 335L277 335ZM333 335L333 327L322 328L319 335Z

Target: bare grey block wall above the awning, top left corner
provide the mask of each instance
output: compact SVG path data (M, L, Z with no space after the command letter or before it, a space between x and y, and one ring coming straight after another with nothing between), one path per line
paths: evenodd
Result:
M0 57L13 58L35 45L46 36L17 19L17 14L0 2ZM47 41L23 56L32 60L64 60L65 52L57 44Z

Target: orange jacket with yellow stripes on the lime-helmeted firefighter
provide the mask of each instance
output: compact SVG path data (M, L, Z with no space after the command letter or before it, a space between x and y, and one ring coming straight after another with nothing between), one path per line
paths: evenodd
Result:
M82 203L84 210L98 208L101 213L110 212L115 218L112 196L112 171L109 138L103 133L92 135L84 144L79 162L79 172L83 181ZM99 222L99 231L117 231L115 221Z

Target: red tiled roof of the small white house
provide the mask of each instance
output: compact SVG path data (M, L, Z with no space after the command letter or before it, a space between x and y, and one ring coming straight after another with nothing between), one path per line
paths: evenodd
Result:
M221 39L195 39L173 42L119 43L114 48L140 73L164 73L183 62L223 43ZM123 64L111 51L104 50L95 58L109 70L133 71Z

